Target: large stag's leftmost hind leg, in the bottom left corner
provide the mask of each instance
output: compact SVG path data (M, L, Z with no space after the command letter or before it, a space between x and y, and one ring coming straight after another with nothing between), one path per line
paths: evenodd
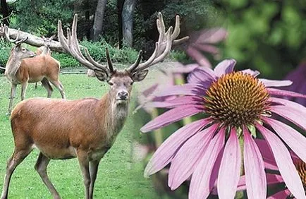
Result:
M8 162L6 164L6 175L4 177L4 188L1 194L1 199L8 198L8 186L10 184L13 171L16 169L18 164L20 164L20 162L23 162L23 159L25 159L25 157L27 157L27 155L29 155L31 151L31 147L27 147L23 150L17 150L15 148L13 155L10 159L8 159Z

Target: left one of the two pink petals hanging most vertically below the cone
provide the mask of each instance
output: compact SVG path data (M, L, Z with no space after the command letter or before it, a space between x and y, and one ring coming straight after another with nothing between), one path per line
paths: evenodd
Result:
M219 198L234 198L241 166L240 145L235 128L227 140L218 176Z

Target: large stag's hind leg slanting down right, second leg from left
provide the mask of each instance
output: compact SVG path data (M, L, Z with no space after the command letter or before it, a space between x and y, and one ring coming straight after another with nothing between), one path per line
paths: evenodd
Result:
M47 167L48 167L49 162L50 162L50 159L44 156L42 152L39 152L39 156L35 164L35 170L38 172L39 176L42 178L42 181L47 186L50 193L53 195L53 198L59 199L61 197L59 196L59 193L56 191L53 184L49 180L49 177L47 174Z

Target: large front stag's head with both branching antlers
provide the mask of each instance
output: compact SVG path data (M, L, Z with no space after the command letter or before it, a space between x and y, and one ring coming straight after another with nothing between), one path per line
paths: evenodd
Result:
M70 30L69 28L67 28L67 37L64 37L61 20L59 20L59 42L61 42L63 49L65 49L66 52L70 53L75 59L77 59L80 64L92 69L99 80L106 81L107 83L109 83L111 87L110 93L112 97L114 97L114 99L121 103L129 100L129 95L130 91L132 90L133 83L145 79L148 73L147 68L164 60L166 55L169 54L171 50L171 45L173 43L188 40L188 37L184 37L180 40L175 40L180 33L179 16L176 16L176 26L174 30L172 27L170 27L169 30L165 31L164 20L162 18L161 13L159 13L157 19L159 40L155 44L155 49L152 56L144 63L140 63L142 58L142 51L140 51L137 60L133 65L124 69L123 71L118 71L111 63L109 51L107 49L107 67L102 64L99 64L97 61L94 61L94 59L92 59L92 56L90 56L90 53L88 52L87 48L85 47L85 56L83 56L77 39L77 23L78 15L75 14L73 18L72 29Z

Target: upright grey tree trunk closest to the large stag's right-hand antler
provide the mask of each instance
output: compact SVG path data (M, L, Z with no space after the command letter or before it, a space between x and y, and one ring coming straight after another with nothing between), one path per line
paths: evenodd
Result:
M126 42L128 47L133 46L133 12L135 3L135 0L126 0L122 11L123 41Z

